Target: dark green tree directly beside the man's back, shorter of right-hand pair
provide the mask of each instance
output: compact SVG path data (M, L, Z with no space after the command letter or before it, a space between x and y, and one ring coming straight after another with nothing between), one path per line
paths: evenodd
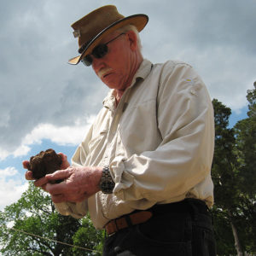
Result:
M215 120L215 150L212 161L215 205L212 209L216 230L218 254L241 254L241 241L237 231L239 212L239 177L236 160L236 138L228 128L231 109L213 99ZM233 239L230 240L230 234ZM235 247L233 246L235 241Z

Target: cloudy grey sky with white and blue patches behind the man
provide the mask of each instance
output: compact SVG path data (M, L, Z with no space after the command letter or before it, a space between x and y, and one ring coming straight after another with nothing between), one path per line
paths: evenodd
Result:
M22 160L46 148L70 160L102 107L107 87L77 55L71 24L105 4L147 14L143 55L189 62L212 98L246 118L256 80L255 0L12 0L0 8L0 210L27 187Z

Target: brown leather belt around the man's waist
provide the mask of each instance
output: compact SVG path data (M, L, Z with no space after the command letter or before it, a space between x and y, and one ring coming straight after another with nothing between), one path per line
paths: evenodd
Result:
M129 226L141 224L148 221L148 219L151 218L152 215L153 213L149 211L140 211L127 214L124 217L115 218L109 221L108 224L105 225L105 230L108 236L111 236L119 230L123 230L125 228L128 228Z

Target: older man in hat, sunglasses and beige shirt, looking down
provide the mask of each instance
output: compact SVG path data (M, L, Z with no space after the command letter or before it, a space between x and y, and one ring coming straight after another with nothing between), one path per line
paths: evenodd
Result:
M35 184L61 214L90 212L108 233L103 255L215 255L212 102L188 64L143 59L147 22L108 5L72 25L80 55L69 63L91 65L111 90L72 165L61 154L63 170Z

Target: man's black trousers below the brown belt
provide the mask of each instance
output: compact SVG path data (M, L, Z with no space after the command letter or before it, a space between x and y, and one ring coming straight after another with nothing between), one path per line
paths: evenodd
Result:
M177 211L175 207L153 210L146 223L108 236L103 256L215 256L211 214L201 211L195 200L170 205L175 204L186 206Z

